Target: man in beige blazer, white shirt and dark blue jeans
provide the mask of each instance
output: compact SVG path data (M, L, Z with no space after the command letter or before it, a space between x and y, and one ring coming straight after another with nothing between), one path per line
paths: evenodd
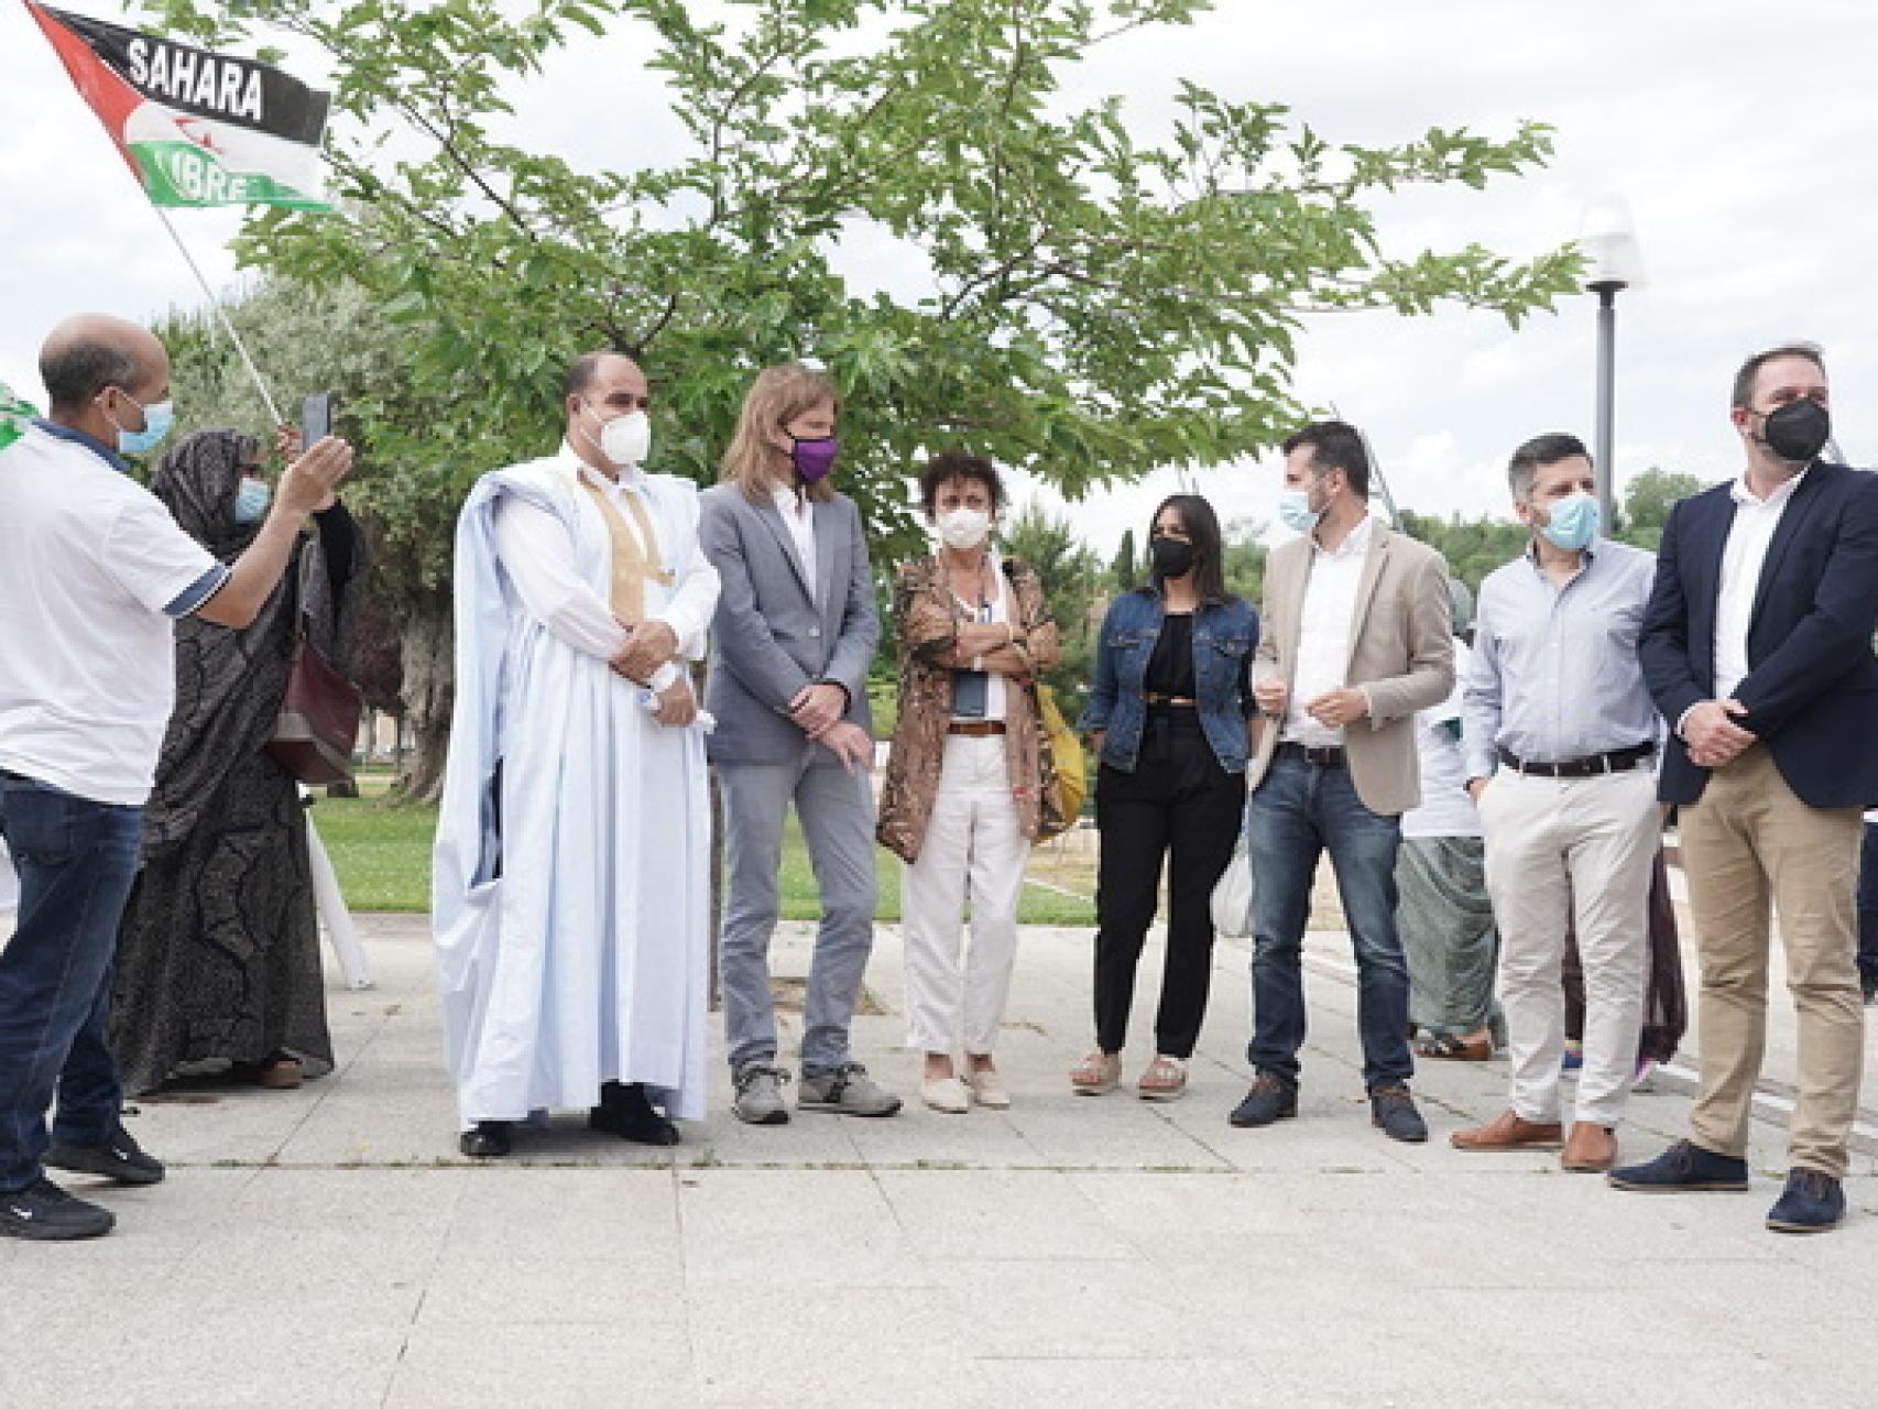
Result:
M1300 949L1330 851L1356 951L1371 1120L1425 1140L1408 1095L1408 966L1395 932L1401 813L1422 800L1414 714L1454 688L1448 564L1369 513L1369 455L1320 421L1285 441L1279 517L1300 537L1266 564L1253 693L1266 716L1247 768L1253 877L1253 1090L1234 1125L1298 1114Z

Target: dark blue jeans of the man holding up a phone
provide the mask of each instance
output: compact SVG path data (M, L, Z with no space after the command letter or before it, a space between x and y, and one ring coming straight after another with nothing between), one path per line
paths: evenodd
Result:
M143 808L0 772L0 836L19 870L19 928L0 949L0 1191L45 1174L54 1093L51 1138L103 1140L118 1118L105 1028L141 834Z

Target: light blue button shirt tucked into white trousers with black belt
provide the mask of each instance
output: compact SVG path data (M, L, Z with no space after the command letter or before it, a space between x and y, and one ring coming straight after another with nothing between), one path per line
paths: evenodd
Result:
M1487 575L1463 695L1469 778L1491 778L1499 748L1564 763L1660 740L1638 661L1655 579L1655 554L1608 539L1562 588L1531 552Z

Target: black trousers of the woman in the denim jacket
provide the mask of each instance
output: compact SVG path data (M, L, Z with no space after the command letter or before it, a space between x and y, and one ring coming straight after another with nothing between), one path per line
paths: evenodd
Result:
M1151 710L1134 772L1102 765L1095 825L1102 836L1095 887L1095 1041L1127 1045L1134 969L1168 877L1168 952L1155 1014L1155 1052L1189 1058L1200 1041L1213 975L1209 900L1245 819L1245 774L1230 774L1191 708Z

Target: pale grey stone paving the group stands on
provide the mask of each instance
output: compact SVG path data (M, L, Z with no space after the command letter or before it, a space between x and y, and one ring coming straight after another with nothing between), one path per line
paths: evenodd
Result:
M1089 932L1027 930L1010 1112L751 1129L723 1082L670 1152L567 1112L470 1165L424 921L364 932L377 986L332 979L332 1076L145 1103L131 1129L171 1176L85 1189L113 1236L0 1240L0 1405L1878 1403L1869 1144L1824 1238L1762 1229L1777 1123L1750 1195L1621 1195L1546 1155L1450 1150L1501 1107L1502 1061L1424 1063L1435 1138L1390 1144L1341 934L1311 937L1303 1108L1273 1129L1226 1125L1243 945L1219 947L1189 1097L1149 1105L1067 1090ZM1131 1080L1159 962L1155 943ZM806 966L789 926L777 971ZM858 1056L913 1097L890 926L868 983L885 1016L856 1022ZM1681 1133L1666 1086L1632 1103L1628 1155Z

